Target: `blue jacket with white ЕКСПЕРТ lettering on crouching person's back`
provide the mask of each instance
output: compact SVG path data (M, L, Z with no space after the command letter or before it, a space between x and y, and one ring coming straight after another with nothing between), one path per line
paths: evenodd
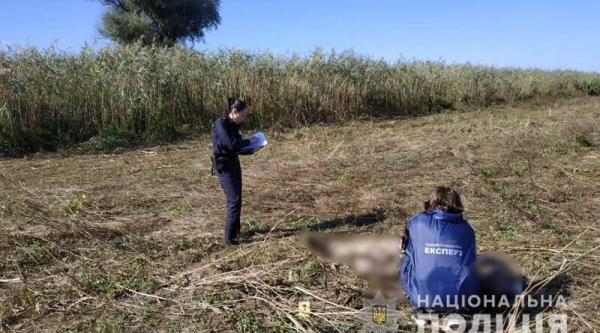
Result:
M463 308L478 290L470 269L477 256L473 228L462 214L430 210L411 217L406 233L400 281L413 305Z

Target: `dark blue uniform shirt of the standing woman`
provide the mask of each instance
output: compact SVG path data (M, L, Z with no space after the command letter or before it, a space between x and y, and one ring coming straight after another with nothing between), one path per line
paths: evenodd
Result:
M212 133L213 154L217 157L235 158L238 154L248 155L250 152L240 152L250 144L250 140L242 139L240 126L227 117L217 119Z

